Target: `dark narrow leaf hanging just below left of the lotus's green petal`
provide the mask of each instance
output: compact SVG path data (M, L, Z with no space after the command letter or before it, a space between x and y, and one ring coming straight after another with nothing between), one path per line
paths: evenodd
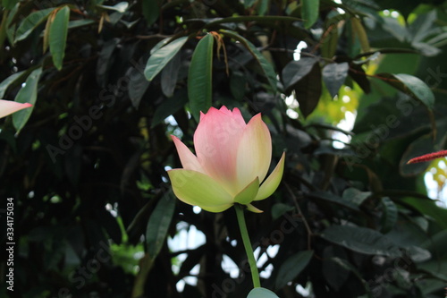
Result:
M158 252L164 245L167 231L173 218L176 199L173 193L166 192L156 204L156 209L150 215L148 227L146 229L146 243L148 245L148 255L151 260L155 260Z

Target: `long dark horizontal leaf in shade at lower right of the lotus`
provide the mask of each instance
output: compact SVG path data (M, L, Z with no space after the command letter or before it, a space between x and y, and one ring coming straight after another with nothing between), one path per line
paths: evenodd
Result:
M401 256L399 247L391 239L367 227L329 226L321 236L351 251L368 255Z

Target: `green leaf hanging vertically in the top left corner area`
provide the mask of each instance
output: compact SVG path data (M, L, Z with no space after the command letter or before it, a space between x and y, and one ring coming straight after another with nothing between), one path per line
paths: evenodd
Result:
M67 43L68 21L70 21L70 8L64 6L55 14L55 20L49 30L49 47L53 56L53 63L58 70L62 69L63 56Z

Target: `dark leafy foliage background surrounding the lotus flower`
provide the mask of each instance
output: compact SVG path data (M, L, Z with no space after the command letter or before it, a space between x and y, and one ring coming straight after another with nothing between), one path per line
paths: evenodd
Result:
M447 211L426 196L424 173L435 166L442 186L445 164L406 161L446 149L446 10L410 0L3 0L0 95L34 108L1 123L0 197L14 199L17 243L14 291L2 260L1 295L246 296L233 210L175 200L165 173L181 166L169 134L192 148L198 111L225 105L246 120L264 115L273 164L287 152L283 183L257 204L265 212L247 214L264 287L442 296ZM348 132L336 126L346 115L357 115ZM204 241L168 247L164 237L181 231ZM177 288L183 278L192 285Z

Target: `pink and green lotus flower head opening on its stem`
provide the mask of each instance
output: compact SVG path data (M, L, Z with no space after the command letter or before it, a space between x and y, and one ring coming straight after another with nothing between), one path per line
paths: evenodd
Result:
M233 204L246 205L264 200L278 187L283 176L284 153L267 178L272 159L272 140L266 123L257 114L245 123L240 110L211 107L200 113L194 133L194 155L172 136L181 169L168 171L173 192L183 202L211 212L221 212Z

